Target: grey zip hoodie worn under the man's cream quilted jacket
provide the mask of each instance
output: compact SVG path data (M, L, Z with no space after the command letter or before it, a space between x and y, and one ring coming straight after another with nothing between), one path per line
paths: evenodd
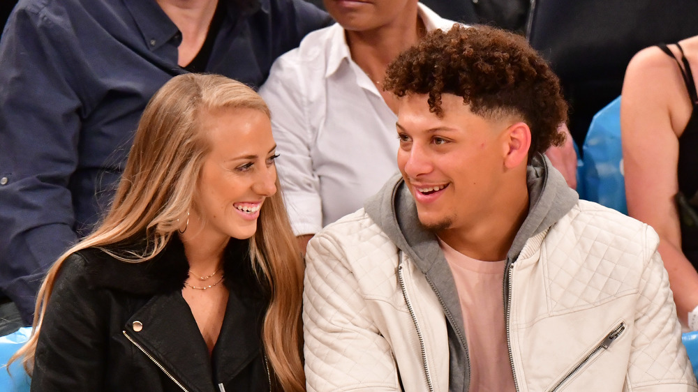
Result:
M514 243L507 252L504 282L507 282L510 266L519 257L526 241L554 225L579 199L577 193L567 186L562 174L541 154L535 156L528 166L526 181L530 207L528 216L523 220ZM463 315L450 267L436 241L436 235L419 224L414 199L399 175L394 176L378 194L368 199L364 208L397 248L414 260L431 284L448 321L449 391L468 391L470 361ZM505 317L509 311L508 294L505 287Z

